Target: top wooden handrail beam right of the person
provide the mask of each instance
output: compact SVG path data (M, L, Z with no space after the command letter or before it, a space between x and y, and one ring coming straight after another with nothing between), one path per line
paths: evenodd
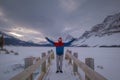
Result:
M79 68L81 68L85 74L91 79L91 80L107 80L105 77L97 73L96 71L89 68L85 63L80 61L79 59L75 58L72 54L69 52L66 53L77 65Z

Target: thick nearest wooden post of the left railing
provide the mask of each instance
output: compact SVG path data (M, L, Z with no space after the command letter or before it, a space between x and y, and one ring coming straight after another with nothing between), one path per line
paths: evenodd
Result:
M28 57L28 58L24 59L25 69L28 68L29 66L33 65L33 60L34 60L34 57ZM26 80L33 80L33 74L31 74Z

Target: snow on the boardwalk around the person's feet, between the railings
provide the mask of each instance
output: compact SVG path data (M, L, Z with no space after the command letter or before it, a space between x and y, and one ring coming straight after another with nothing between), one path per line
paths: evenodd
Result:
M63 73L56 73L56 59L54 59L44 80L79 80L78 76L74 76L72 70L73 67L64 60Z

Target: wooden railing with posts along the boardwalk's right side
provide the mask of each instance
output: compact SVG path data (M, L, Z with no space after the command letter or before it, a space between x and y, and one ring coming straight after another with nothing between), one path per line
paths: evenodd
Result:
M85 75L88 78L85 78L86 80L107 80L105 77L88 67L85 63L77 59L78 54L74 53L74 56L71 54L71 51L67 50L65 58L69 60L69 63L71 63L73 60L73 71L77 72L77 67L82 69L85 72ZM75 63L75 64L74 64Z

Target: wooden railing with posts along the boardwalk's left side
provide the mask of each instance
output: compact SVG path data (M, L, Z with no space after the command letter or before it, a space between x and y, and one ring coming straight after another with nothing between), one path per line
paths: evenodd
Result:
M26 68L23 72L17 74L10 80L33 80L32 74L40 65L42 65L42 67L41 67L42 72L40 73L41 75L39 76L38 80L42 80L43 76L47 72L48 65L51 64L52 58L54 58L54 53L52 50L48 51L48 55L46 55L46 53L42 53L42 59L38 60L35 64ZM49 63L48 65L46 65L47 59L48 59L48 63Z

